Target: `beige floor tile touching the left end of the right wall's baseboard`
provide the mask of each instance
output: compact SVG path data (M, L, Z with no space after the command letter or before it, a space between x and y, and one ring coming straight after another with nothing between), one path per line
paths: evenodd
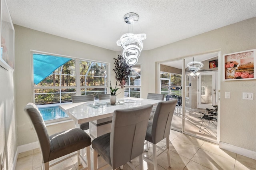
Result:
M204 142L204 144L202 144L201 149L203 150L207 150L209 152L212 152L214 154L220 155L222 157L226 157L226 158L234 158L236 159L236 154L234 152L230 152L228 150L224 150L219 148L218 144L214 144L212 142Z

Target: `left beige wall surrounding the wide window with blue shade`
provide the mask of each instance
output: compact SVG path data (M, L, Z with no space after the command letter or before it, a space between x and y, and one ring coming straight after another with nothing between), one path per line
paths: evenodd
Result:
M93 45L72 41L69 39L38 32L21 26L15 28L15 77L16 77L16 115L18 127L18 146L36 141L34 131L23 111L32 98L32 67L30 50L43 51L58 55L66 55L82 59L91 59L111 63L110 73L113 77L113 58L116 52ZM114 79L113 79L114 81ZM62 125L61 130L72 125ZM56 126L47 127L49 134L54 133Z

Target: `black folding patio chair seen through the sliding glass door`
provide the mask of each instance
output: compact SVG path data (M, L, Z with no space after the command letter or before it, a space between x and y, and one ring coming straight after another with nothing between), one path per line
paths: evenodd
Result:
M217 122L217 116L218 116L218 106L214 105L212 106L212 109L207 109L205 110L205 113L202 113L198 111L200 114L200 119L202 120L202 124L200 126L199 132L202 132L202 130L207 130L210 134L212 134L208 128L212 126L215 122ZM203 116L202 116L203 115ZM214 133L214 132L213 132ZM215 136L217 136L214 133Z

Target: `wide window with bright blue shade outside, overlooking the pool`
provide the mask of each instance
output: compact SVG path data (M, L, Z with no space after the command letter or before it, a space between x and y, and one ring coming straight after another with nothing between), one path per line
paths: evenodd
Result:
M33 53L34 102L45 108L72 102L73 95L92 94L97 99L107 93L107 67L106 63ZM49 114L53 117L44 113L47 119L59 118L55 112Z

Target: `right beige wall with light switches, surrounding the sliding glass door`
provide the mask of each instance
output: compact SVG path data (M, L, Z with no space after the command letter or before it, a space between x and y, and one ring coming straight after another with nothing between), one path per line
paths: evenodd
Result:
M156 62L178 59L208 51L223 54L256 48L256 17L219 28L198 36L147 51L140 57L142 70L142 97L146 91L155 92L157 86ZM223 81L223 63L218 61L220 77L220 141L256 151L256 80ZM146 75L145 75L146 73ZM145 78L146 76L146 78ZM151 83L148 83L151 82ZM153 83L155 82L155 83ZM146 84L150 84L145 87ZM231 92L225 99L224 92ZM254 92L254 100L242 100L242 92Z

